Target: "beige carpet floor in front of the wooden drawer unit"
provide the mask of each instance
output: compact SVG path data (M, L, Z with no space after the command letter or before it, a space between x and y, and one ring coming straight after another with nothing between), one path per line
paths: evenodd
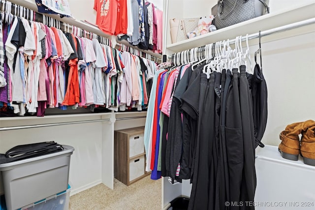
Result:
M161 210L161 179L150 175L126 186L114 180L114 189L98 184L70 197L69 210Z

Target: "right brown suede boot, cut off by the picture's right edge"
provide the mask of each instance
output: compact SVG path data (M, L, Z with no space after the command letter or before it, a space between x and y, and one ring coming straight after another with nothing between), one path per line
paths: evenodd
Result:
M305 164L315 166L315 125L302 132L301 155Z

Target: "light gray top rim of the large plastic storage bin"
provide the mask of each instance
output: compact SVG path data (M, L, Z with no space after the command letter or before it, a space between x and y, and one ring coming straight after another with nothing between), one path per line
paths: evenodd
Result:
M40 155L40 156L36 156L36 157L30 157L27 159L23 159L23 160L17 160L17 161L13 161L13 162L9 162L9 163L2 163L0 164L0 171L5 171L6 167L9 166L15 166L15 165L20 165L20 164L25 164L28 162L32 162L32 161L36 161L36 160L41 160L41 159L45 159L45 158L49 158L49 157L54 157L54 156L58 156L58 155L63 155L63 154L67 154L67 153L73 153L74 148L68 145L63 145L63 149L62 151L57 151L57 152L53 152L50 154L44 154L44 155ZM70 154L70 155L71 155Z

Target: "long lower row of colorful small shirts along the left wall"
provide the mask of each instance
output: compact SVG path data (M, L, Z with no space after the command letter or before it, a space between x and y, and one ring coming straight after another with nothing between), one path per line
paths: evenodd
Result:
M1 24L5 56L0 69L6 84L1 73L0 101L15 114L42 117L47 108L88 106L92 111L147 108L153 79L147 71L154 74L155 62L25 18L13 16Z

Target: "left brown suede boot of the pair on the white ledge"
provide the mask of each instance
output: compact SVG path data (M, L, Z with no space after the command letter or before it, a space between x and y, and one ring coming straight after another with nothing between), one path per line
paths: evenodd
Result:
M299 134L306 131L309 127L315 125L314 120L305 122L295 122L285 127L285 130L280 133L281 143L279 151L285 159L298 160L300 153L300 138Z

